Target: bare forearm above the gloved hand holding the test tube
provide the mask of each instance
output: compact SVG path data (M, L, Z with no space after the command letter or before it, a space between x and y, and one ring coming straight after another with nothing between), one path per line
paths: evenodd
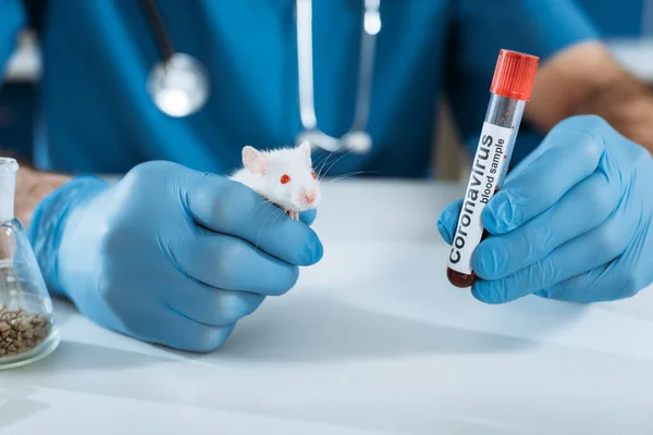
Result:
M653 152L653 92L600 44L572 47L540 72L529 121L547 132L565 117L596 114Z

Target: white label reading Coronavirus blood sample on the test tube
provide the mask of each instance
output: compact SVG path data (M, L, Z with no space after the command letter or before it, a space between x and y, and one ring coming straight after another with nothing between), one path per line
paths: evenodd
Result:
M512 136L513 128L483 123L449 253L448 266L456 272L472 272L471 254L483 237L481 212L496 188L501 187L506 173L504 166L509 159Z

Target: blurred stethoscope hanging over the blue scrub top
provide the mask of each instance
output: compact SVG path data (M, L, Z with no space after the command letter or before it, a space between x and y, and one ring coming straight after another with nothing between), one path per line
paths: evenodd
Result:
M342 137L333 137L318 127L313 96L312 1L296 0L297 72L299 83L299 117L301 130L295 140L308 140L325 151L368 152L372 138L367 133L371 88L373 82L377 34L381 30L381 0L364 0L365 12L360 38L360 58L354 122ZM210 95L206 67L196 58L174 49L155 0L140 0L160 61L151 69L147 90L163 113L173 117L188 116L200 110Z

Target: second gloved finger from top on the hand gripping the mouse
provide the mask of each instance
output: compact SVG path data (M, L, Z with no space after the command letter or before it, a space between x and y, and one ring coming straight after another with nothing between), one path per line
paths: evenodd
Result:
M224 290L279 296L289 290L299 276L296 265L243 239L204 228L196 231L193 243L173 244L170 257L188 276Z

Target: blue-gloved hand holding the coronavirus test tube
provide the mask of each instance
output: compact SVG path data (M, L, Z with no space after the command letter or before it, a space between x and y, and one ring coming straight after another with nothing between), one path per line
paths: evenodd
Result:
M473 296L592 302L637 294L653 282L652 188L643 147L597 116L563 121L484 208L490 236L472 254ZM438 223L449 244L460 204Z

